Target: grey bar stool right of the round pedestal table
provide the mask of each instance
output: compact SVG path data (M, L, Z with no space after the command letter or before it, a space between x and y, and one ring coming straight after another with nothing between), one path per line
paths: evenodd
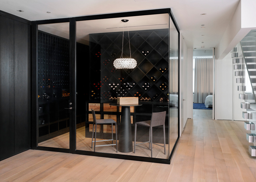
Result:
M143 144L143 143L149 143L148 148L145 148L145 149L151 150L151 157L152 157L152 143L153 143L153 142L152 142L152 138L153 138L153 136L152 136L152 135L153 135L153 133L152 133L152 127L163 125L164 146L159 145L159 144L157 144L157 143L153 143L153 144L158 145L158 146L160 146L160 147L164 147L164 154L165 154L165 115L166 115L166 111L163 111L163 112L153 112L153 113L152 113L152 116L151 116L151 120L148 120L148 121L141 121L141 122L136 122L136 123L135 123L135 132L134 132L134 153L135 153L135 147L136 147L136 146L141 147L141 148L145 148L145 147L142 147L142 146L139 146L139 145L141 145L141 144ZM136 144L137 125L142 125L142 126L147 126L147 127L149 127L149 141ZM151 144L151 148L150 148L150 144Z

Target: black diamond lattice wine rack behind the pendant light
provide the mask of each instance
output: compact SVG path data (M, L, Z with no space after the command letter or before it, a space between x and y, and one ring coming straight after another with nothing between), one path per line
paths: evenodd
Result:
M132 31L134 69L115 69L121 56L123 32L90 34L90 100L115 100L138 96L139 101L168 101L169 30ZM130 57L128 35L124 35L124 58Z

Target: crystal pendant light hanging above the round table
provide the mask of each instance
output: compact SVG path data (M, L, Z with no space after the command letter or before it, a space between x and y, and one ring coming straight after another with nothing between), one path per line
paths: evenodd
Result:
M121 20L121 21L127 22L129 20L124 19L124 20ZM127 28L128 28L128 25L127 25ZM123 58L123 49L124 49L124 28L123 28L122 54L121 54L120 58L118 58L114 61L114 66L115 66L116 69L133 69L137 65L136 60L131 58L129 29L128 29L128 39L129 39L129 48L130 48L130 58Z

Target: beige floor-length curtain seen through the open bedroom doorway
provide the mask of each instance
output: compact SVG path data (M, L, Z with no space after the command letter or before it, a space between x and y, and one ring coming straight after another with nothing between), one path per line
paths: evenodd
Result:
M204 103L213 93L213 58L195 58L195 91L193 102Z

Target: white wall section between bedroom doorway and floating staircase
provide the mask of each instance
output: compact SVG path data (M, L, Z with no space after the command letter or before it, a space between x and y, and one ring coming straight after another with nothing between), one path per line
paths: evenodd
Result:
M215 119L232 120L233 63L231 53L223 59L216 59L215 67Z

